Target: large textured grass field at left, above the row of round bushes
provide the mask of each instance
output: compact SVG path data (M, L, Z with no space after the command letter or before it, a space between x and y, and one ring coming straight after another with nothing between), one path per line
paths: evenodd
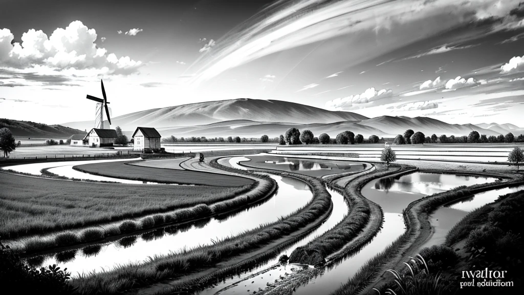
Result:
M98 184L0 172L0 187L0 236L8 238L212 204L245 192L251 185Z

